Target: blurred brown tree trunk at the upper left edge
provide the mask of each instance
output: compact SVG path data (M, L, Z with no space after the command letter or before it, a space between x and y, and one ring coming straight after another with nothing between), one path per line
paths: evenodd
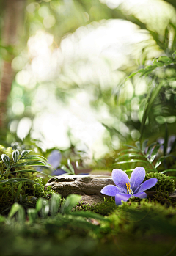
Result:
M26 0L4 0L4 28L2 33L2 43L4 46L12 46L15 48L18 45L19 33L23 25L23 11ZM2 70L1 89L0 89L0 128L5 127L7 98L10 94L12 80L14 74L12 72L11 62L12 54L8 56L9 60L4 60Z

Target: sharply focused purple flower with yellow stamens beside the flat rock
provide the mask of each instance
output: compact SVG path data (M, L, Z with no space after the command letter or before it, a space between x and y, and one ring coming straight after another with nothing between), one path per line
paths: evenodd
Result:
M145 170L143 167L133 169L130 179L121 169L114 169L112 179L116 186L107 185L101 189L101 193L115 197L116 205L121 205L122 200L126 202L130 197L146 198L147 194L144 191L155 186L158 180L151 178L144 181L144 177ZM144 183L142 183L143 181Z

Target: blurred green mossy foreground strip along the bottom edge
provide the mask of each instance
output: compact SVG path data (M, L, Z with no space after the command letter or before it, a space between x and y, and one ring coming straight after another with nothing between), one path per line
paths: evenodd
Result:
M175 208L142 200L125 202L101 220L75 214L1 222L1 255L175 255Z

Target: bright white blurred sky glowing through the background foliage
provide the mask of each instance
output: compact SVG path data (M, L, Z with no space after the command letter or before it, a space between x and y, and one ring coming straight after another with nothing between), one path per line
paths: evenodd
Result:
M173 12L159 0L100 1L110 8L122 3L122 8L126 12L136 12L139 19L147 19L147 21L147 15L160 16L161 11L167 18ZM138 10L135 9L136 2ZM150 26L150 21L148 22ZM65 148L70 145L67 137L67 130L70 129L75 140L81 142L81 147L82 145L89 147L90 157L93 153L96 158L107 153L109 149L103 144L103 138L110 138L100 123L103 119L111 120L106 106L102 106L98 112L93 110L90 106L93 95L84 89L78 89L66 106L56 99L51 81L65 84L65 87L67 84L76 83L79 87L100 84L102 89L113 88L124 76L117 69L127 62L130 65L130 56L138 59L142 46L150 43L152 40L146 31L129 21L119 19L103 20L82 26L73 34L63 37L59 48L52 48L55 44L52 34L39 30L30 37L27 47L31 62L30 64L28 62L23 70L18 71L15 80L29 91L35 89L37 83L41 84L37 87L32 100L32 109L36 114L32 137L42 139L43 148ZM154 54L160 52L156 50ZM12 67L19 70L21 66L23 66L23 57L18 56L13 60ZM20 100L14 100L12 111L17 115L21 114L22 105ZM11 131L17 125L18 136L22 139L32 127L32 122L26 117L19 123L13 121Z

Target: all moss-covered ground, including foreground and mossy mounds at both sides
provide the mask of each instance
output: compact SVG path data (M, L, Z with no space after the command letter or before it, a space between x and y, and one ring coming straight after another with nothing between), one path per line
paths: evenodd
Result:
M12 161L12 150L4 148ZM1 152L1 153L2 153ZM1 172L5 166L0 162ZM28 167L29 169L29 167ZM9 174L8 178L18 174ZM35 208L37 198L50 200L53 191L43 191L42 178L28 172L23 177L38 183L26 183L21 189L22 197L16 201L27 208ZM39 213L34 223L18 221L18 215L12 219L7 214L15 202L18 184L14 184L14 197L9 184L0 190L0 256L174 256L176 253L176 208L175 200L169 198L169 192L175 190L174 182L166 175L148 173L148 178L158 178L158 193L153 200L130 199L118 206L114 200L104 200L97 205L79 203L70 213L49 214L45 219ZM62 203L65 199L62 199ZM5 210L5 211L4 211ZM27 211L26 211L27 212ZM84 213L98 213L100 218L89 217ZM83 213L78 216L78 213Z

